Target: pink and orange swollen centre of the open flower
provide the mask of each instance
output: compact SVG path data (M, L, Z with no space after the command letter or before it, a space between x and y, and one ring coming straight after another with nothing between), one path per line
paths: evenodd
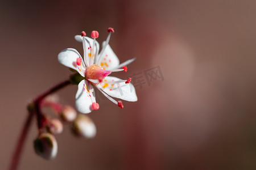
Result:
M108 76L111 71L104 70L101 66L94 64L92 66L89 66L85 70L85 76L86 79L98 79L100 82Z

